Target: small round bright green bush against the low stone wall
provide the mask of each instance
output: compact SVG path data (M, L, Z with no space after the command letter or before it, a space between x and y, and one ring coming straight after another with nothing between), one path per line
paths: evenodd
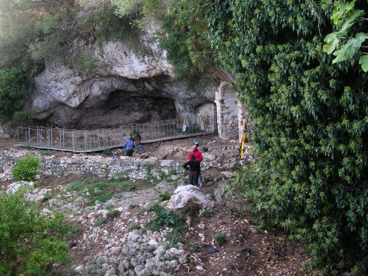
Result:
M32 181L40 168L41 163L38 156L26 154L25 157L16 160L12 168L12 175L17 181Z

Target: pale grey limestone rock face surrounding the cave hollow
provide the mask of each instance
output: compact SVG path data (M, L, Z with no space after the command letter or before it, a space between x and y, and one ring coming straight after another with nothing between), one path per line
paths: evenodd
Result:
M139 38L146 54L132 51L130 41L108 42L100 48L79 41L78 49L94 51L97 66L89 73L66 63L49 64L34 82L31 107L41 111L35 123L91 129L186 118L208 110L218 81L189 91L174 80L165 52L148 42L156 28L154 22L147 24Z

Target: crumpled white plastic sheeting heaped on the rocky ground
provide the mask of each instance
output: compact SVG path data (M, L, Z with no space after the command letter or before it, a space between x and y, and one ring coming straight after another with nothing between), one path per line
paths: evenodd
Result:
M187 204L188 200L197 201L208 208L213 208L213 202L206 199L199 188L193 185L179 186L176 188L168 202L168 207L172 209L182 208Z

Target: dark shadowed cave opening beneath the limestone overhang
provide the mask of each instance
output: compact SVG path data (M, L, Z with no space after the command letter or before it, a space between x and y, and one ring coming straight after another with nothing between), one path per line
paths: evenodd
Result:
M112 91L102 108L109 126L142 124L176 118L173 99L137 95L122 90Z

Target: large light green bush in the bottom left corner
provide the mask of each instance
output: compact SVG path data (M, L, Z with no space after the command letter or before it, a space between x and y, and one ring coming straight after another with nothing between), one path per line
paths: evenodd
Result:
M0 275L45 275L70 260L63 215L48 218L30 206L23 191L0 192Z

